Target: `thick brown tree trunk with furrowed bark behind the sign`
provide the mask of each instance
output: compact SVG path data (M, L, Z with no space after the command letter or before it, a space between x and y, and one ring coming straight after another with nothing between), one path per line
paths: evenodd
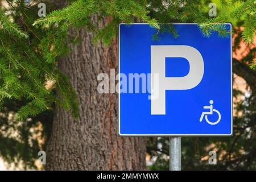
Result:
M102 27L107 22L99 22ZM76 34L70 30L69 34ZM99 94L97 75L118 69L117 42L92 44L93 33L80 31L81 43L60 60L80 101L79 119L57 107L47 147L47 170L143 170L146 139L118 137L118 96Z

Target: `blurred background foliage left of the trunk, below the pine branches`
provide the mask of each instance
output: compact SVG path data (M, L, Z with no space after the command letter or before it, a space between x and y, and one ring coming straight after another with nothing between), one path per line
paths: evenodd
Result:
M16 121L15 113L25 101L6 100L0 113L0 156L11 169L43 169L37 161L39 151L46 151L51 133L53 109L36 117Z

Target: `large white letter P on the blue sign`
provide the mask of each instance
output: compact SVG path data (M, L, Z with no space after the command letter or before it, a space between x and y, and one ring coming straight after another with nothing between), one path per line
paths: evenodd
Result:
M166 57L183 57L188 60L189 72L184 77L166 77ZM154 75L159 79L154 79ZM151 46L151 114L166 114L166 90L188 90L198 85L204 75L204 60L200 52L191 46ZM155 89L159 81L159 89ZM159 93L156 93L158 91Z

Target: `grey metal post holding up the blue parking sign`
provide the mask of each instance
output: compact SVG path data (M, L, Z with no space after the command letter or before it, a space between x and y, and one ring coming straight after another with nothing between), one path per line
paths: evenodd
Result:
M181 171L181 137L170 137L170 171Z

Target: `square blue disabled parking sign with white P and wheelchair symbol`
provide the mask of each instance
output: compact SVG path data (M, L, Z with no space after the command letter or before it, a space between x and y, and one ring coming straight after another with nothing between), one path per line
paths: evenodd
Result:
M203 36L195 23L177 34L119 25L121 136L232 135L232 38Z

